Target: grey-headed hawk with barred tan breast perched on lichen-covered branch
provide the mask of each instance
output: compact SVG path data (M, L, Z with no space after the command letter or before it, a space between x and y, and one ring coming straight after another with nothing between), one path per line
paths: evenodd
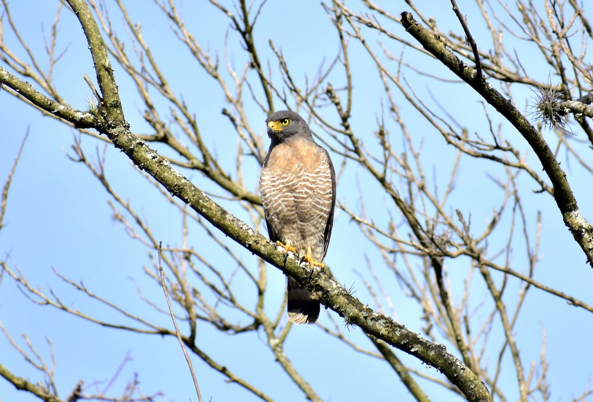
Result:
M330 156L294 111L277 111L266 123L272 143L263 162L260 190L270 240L294 251L311 267L323 266L336 205ZM289 276L289 320L313 324L319 310L311 292Z

